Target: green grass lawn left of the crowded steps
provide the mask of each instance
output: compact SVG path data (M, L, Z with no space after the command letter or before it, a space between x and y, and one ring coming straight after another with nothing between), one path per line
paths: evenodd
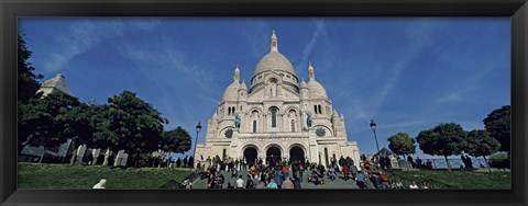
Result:
M19 188L91 188L100 179L107 188L156 190L170 180L183 182L193 172L166 168L110 168L101 165L69 165L19 163Z

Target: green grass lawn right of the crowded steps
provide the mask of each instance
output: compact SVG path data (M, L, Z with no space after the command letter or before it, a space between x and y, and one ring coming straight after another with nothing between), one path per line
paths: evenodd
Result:
M510 190L512 173L495 171L468 172L468 171L397 171L396 174L424 182L432 179L463 190Z

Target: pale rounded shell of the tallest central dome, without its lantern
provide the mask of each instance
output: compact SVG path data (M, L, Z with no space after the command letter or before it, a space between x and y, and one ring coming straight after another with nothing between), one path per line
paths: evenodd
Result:
M258 61L255 68L255 75L265 72L265 71L273 71L276 69L277 71L286 71L290 75L297 76L294 70L294 66L292 62L280 53L272 50Z

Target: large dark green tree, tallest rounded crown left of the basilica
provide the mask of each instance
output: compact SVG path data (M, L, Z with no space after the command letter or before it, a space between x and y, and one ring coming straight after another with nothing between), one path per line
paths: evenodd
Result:
M138 167L141 153L158 149L163 124L167 121L151 104L127 90L110 98L108 102L110 122L107 124L114 138L110 140L114 142L111 149L124 149L129 153L128 165Z

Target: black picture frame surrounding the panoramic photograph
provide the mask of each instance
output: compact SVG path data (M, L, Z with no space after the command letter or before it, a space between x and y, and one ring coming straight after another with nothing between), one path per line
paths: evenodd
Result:
M1 205L526 205L526 0L1 0ZM510 16L512 190L125 191L16 188L16 19L23 16ZM485 180L483 180L485 181Z

